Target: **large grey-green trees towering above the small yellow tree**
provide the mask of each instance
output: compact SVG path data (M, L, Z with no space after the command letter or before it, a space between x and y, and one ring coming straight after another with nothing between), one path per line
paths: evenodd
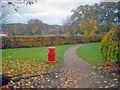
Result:
M118 25L118 3L117 2L101 2L100 4L90 5L80 5L77 9L72 10L73 15L71 18L73 22L80 26L89 22L91 17L94 18L97 34L108 32L112 27L112 23ZM95 27L95 28L96 28ZM87 28L87 27L86 27ZM80 30L81 31L81 30ZM84 31L85 32L85 31Z

